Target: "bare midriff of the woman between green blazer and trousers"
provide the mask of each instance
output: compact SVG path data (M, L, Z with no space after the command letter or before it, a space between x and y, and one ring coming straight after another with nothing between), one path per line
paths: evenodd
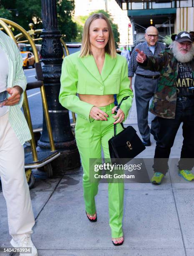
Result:
M98 108L110 105L114 102L114 96L111 95L87 95L78 94L80 100L90 103Z

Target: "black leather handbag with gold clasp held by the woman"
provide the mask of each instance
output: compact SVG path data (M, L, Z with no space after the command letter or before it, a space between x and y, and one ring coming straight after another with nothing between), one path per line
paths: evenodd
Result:
M121 100L114 114L118 112L122 101L128 97L124 97ZM126 163L144 151L146 147L131 125L125 128L121 123L121 126L123 131L116 134L116 124L114 125L114 136L108 141L108 147L111 159L120 159L120 162Z

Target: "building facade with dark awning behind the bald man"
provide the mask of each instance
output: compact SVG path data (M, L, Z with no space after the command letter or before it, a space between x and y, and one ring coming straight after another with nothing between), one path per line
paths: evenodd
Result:
M180 31L194 31L193 0L115 0L122 10L128 11L133 24L134 46L144 41L145 29L155 26L159 41L166 35Z

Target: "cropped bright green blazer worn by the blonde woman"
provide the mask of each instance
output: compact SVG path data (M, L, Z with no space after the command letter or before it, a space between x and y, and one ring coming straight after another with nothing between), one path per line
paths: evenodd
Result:
M89 114L93 105L83 102L76 95L117 95L118 103L125 96L131 96L122 102L121 109L125 119L131 108L133 92L129 89L128 67L126 59L117 54L111 59L105 55L101 74L93 55L80 57L80 51L66 56L63 60L60 77L59 102L63 107L90 121Z

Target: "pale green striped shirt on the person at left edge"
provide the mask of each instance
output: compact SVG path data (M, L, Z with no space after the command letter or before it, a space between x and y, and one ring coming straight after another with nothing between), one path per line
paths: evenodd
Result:
M2 31L0 31L0 48L3 49L8 56L9 74L7 87L14 87L15 85L18 85L24 91L27 80L23 72L23 59L15 42ZM10 97L9 94L8 97ZM8 111L10 124L20 143L23 145L25 141L29 141L31 139L31 134L25 117L21 111L22 103L23 94L21 95L20 102L18 104L8 106Z

